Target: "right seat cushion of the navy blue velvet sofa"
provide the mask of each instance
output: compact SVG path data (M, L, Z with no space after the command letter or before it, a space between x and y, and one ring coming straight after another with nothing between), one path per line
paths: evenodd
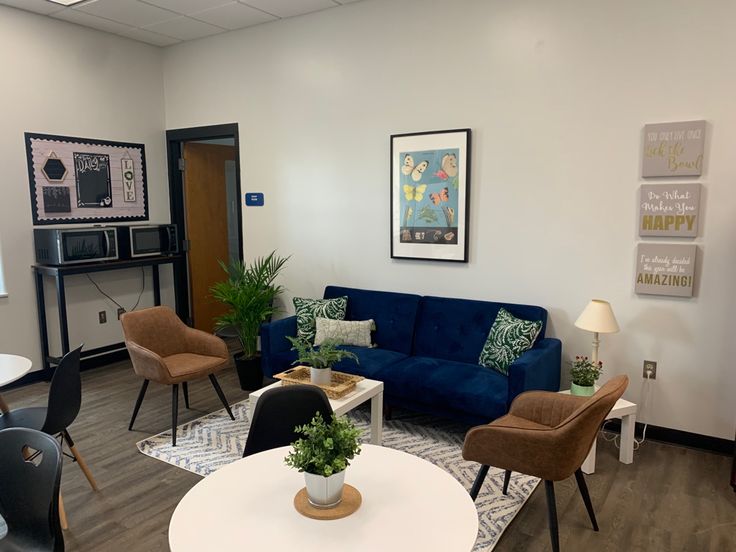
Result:
M491 421L506 413L508 378L478 364L413 356L376 373L388 395Z

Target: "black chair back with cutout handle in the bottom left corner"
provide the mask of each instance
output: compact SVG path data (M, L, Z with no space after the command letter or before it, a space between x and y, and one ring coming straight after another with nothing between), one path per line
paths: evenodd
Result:
M64 550L59 522L61 448L25 428L0 431L0 515L8 532L0 552Z

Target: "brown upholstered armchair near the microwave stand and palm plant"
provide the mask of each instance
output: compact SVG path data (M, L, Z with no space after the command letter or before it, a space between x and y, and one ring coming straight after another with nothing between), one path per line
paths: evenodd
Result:
M144 378L133 408L129 431L133 429L150 381L172 386L171 443L174 446L180 383L184 390L184 404L189 408L187 382L208 376L230 418L235 420L215 377L215 372L228 363L227 345L222 339L190 328L169 307L128 312L120 317L120 322L133 370Z

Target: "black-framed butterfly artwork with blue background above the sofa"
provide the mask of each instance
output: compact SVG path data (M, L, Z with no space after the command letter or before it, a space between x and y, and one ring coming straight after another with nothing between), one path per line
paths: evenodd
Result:
M391 258L468 262L470 129L391 136Z

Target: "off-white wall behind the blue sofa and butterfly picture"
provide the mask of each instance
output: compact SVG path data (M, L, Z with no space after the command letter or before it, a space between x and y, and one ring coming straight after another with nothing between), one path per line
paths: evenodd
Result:
M546 306L564 357L593 297L622 331L606 375L650 423L732 439L736 47L729 2L364 0L165 50L168 128L240 124L248 256L325 284ZM696 297L633 293L640 133L709 122ZM470 262L389 258L389 135L473 129Z

